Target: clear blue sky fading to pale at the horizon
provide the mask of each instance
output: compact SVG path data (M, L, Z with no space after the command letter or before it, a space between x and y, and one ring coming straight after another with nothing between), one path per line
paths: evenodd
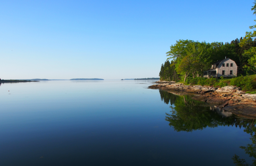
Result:
M176 40L230 42L253 0L0 1L1 79L158 77Z

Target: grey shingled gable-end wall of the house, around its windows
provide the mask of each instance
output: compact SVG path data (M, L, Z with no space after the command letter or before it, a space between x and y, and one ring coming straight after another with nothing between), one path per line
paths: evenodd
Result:
M229 64L227 67L227 63ZM233 63L233 66L230 67L230 64ZM225 67L222 66L222 64L225 64ZM225 70L225 75L222 75L222 70ZM230 70L233 70L233 74L230 74ZM217 77L236 77L237 76L237 65L235 63L235 61L231 60L231 59L225 59L224 61L222 61L218 68L217 68Z

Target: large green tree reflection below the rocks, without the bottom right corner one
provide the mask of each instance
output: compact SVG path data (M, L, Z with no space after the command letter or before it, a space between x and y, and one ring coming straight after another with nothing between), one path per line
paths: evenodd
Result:
M166 113L165 120L169 121L169 125L177 132L192 132L219 125L235 125L240 128L242 126L240 123L242 119L235 117L232 113L205 106L204 102L193 100L188 95L175 95L161 90L159 92L161 99L166 104L171 104L171 111Z

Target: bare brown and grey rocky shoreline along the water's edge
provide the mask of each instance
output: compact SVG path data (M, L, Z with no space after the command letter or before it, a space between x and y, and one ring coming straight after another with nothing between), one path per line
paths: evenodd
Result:
M256 117L256 94L245 94L240 87L226 86L216 89L212 86L183 85L173 81L157 81L150 89L193 93L192 99L218 105L226 111Z

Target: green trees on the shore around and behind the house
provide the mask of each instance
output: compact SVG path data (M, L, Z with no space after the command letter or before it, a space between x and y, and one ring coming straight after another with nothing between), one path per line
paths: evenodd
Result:
M256 0L252 7L256 14ZM250 26L256 28L256 25ZM167 52L167 61L162 64L160 80L177 81L188 77L202 77L203 72L211 68L218 60L230 58L239 67L256 72L256 31L246 32L245 37L231 42L212 42L179 40L171 45ZM171 60L171 63L169 62Z

